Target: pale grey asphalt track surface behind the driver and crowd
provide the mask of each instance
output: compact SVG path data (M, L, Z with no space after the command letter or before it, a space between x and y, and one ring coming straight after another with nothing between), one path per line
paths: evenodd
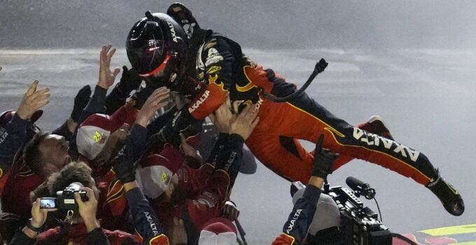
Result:
M0 111L15 109L38 79L52 94L38 124L53 130L69 116L77 90L97 81L99 49L0 50ZM393 232L474 223L476 50L244 50L298 86L324 57L329 66L307 89L311 97L351 124L379 114L396 141L425 153L463 195L465 214L453 217L429 190L378 165L353 160L330 176L333 186L345 186L347 176L370 183ZM119 50L113 66L123 64ZM269 244L292 209L289 183L260 164L238 176L232 199L249 244ZM373 201L364 203L377 211Z

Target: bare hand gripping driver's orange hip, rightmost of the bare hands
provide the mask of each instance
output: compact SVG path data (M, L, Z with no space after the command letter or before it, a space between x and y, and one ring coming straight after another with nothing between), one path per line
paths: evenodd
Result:
M251 132L253 132L256 125L260 121L258 117L258 110L254 110L254 104L249 106L246 105L246 108L239 113L237 118L233 120L230 125L230 134L238 134L243 137L244 140L248 139Z

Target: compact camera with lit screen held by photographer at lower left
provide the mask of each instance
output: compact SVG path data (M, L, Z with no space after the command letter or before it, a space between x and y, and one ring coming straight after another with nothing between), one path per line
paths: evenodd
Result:
M83 188L83 184L74 182L69 184L64 190L56 192L57 197L42 197L40 199L40 209L63 209L78 211L78 204L74 199L74 193L79 193L81 200L87 202L89 197Z

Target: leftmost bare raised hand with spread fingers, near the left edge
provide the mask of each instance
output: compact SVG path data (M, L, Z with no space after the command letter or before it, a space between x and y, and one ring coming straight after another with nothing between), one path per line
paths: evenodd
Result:
M31 118L35 111L50 102L50 89L45 87L41 90L36 90L38 83L38 80L31 83L27 92L23 95L20 106L18 106L18 116L23 120Z

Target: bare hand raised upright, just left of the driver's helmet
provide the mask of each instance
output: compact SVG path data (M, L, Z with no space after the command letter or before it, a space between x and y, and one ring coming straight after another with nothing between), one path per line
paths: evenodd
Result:
M113 85L116 76L118 76L120 72L119 68L111 71L111 58L116 52L116 48L111 50L111 47L111 44L103 45L101 54L99 55L99 80L97 81L97 85L106 90Z

